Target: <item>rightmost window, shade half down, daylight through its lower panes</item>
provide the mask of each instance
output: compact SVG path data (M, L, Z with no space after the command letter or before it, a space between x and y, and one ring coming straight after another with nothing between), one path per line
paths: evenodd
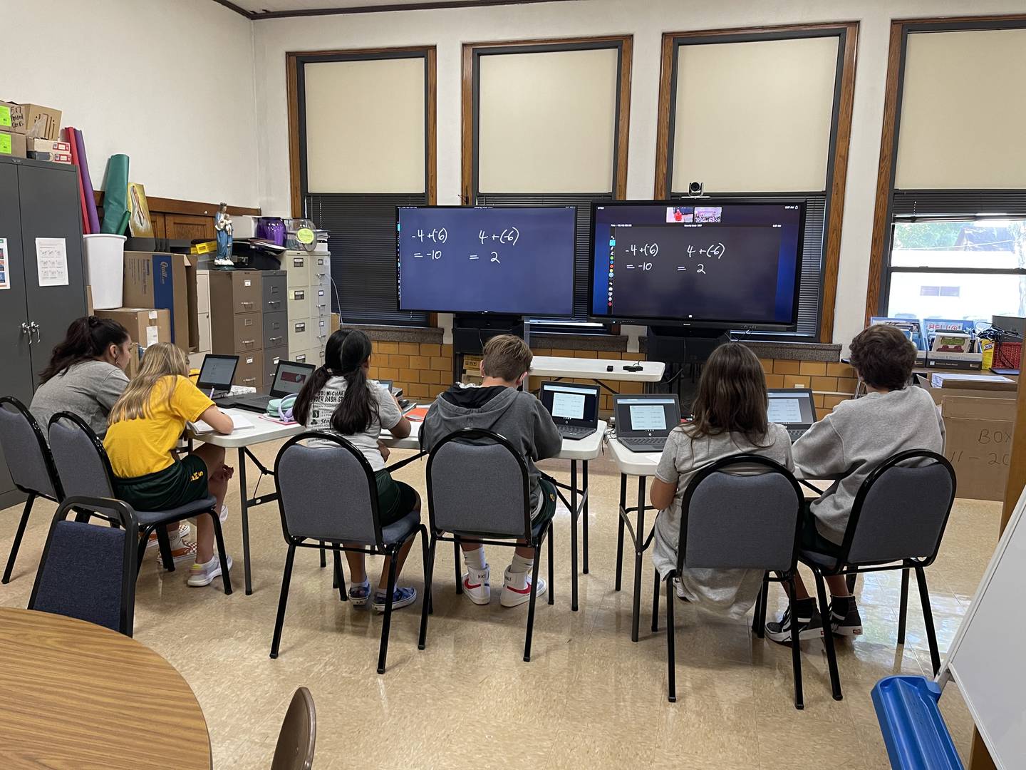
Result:
M1024 46L1022 18L904 26L880 314L1026 315Z

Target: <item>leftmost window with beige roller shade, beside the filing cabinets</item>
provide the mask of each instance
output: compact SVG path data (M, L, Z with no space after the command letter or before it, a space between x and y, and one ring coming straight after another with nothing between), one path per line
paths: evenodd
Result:
M427 325L400 312L395 209L434 202L434 48L297 56L303 216L328 232L345 323Z

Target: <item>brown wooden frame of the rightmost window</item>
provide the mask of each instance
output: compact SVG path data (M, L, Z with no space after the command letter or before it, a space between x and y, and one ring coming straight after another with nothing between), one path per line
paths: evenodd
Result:
M885 307L886 297L884 295L890 285L887 267L893 241L895 177L898 172L902 88L905 81L905 59L909 34L1024 28L1026 28L1026 13L896 18L891 22L883 124L880 131L880 160L876 176L876 201L873 206L873 235L869 247L869 278L866 284L866 323L869 323L870 317L883 314L880 311Z

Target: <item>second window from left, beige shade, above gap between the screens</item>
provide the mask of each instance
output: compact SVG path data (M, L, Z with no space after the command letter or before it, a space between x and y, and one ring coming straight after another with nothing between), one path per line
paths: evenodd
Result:
M467 45L464 56L465 202L576 206L574 313L539 325L602 331L588 323L591 203L624 196L631 38Z

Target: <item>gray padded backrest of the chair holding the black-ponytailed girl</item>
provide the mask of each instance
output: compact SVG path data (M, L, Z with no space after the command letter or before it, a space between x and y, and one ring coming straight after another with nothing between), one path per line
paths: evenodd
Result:
M343 447L293 444L278 457L276 483L288 534L331 542L377 542L366 471Z

